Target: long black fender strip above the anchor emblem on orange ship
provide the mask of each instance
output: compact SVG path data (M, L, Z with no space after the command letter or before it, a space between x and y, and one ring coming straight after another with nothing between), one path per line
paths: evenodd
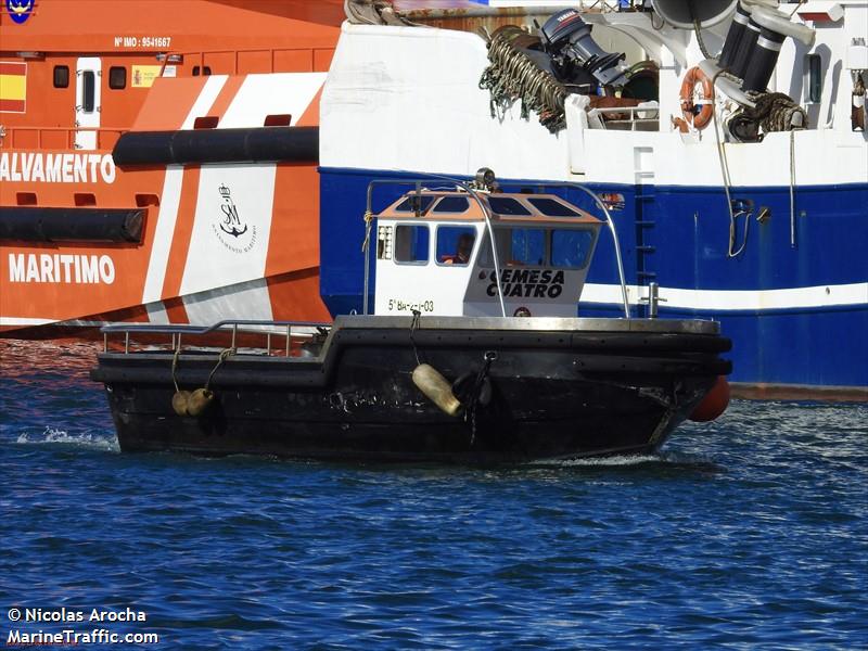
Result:
M195 163L319 163L319 127L128 131L112 152L120 168Z

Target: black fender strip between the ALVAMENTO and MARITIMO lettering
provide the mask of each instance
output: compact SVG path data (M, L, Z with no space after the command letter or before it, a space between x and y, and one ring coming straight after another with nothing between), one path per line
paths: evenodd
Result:
M0 207L0 241L139 243L143 208Z

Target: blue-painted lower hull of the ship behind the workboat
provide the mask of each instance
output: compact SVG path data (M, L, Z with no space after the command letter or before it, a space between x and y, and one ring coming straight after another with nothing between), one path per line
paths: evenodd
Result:
M360 246L368 183L374 178L418 176L320 170L320 290L332 314L362 310ZM501 183L515 189L538 182ZM663 303L660 316L719 321L722 332L733 342L730 380L754 387L782 387L784 392L779 395L787 388L793 390L793 395L805 391L807 396L838 391L848 398L868 399L868 290L863 289L868 281L868 183L799 187L794 225L789 188L733 189L732 199L751 209L746 220L737 220L735 248L744 241L745 221L750 226L744 250L735 257L728 255L730 218L723 188L589 187L623 196L623 207L612 216L627 283L641 286L655 281L663 298L666 289L692 291L688 294L700 305L690 306L690 301L680 306ZM374 210L406 190L403 186L379 188ZM561 192L576 205L596 212L578 191ZM756 217L764 208L766 217L760 221ZM614 264L604 263L614 259L610 238L601 237L596 259L588 283L616 285ZM854 284L860 285L856 292L865 296L853 298ZM851 285L851 296L841 304L810 298L817 292L838 295L842 285ZM799 291L806 288L814 288L814 292ZM777 299L764 305L756 292L769 291ZM703 301L703 293L714 298ZM730 294L736 298L730 301ZM746 306L742 305L745 296ZM714 307L703 307L706 303ZM646 309L637 306L634 314L642 316ZM582 303L578 314L616 317L618 310L613 299L611 304Z

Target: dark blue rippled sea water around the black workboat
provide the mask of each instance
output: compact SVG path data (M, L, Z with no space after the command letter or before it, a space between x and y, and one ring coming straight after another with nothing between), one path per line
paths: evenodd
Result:
M868 646L868 408L478 470L118 452L90 344L0 343L0 631L145 648ZM142 611L12 623L10 609Z

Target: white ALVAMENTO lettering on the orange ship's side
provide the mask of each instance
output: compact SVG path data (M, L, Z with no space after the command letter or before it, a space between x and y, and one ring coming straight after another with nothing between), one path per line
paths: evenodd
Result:
M111 154L0 154L0 181L41 183L114 183L117 170Z

